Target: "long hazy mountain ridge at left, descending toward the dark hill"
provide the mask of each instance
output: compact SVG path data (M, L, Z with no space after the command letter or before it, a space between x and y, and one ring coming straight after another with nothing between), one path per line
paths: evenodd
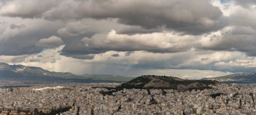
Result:
M78 81L78 82L125 82L129 77L114 79L114 76L88 75L80 76L72 73L50 72L40 67L9 65L0 63L0 80L8 81L36 81L36 82L57 82L57 81ZM117 77L117 76L116 76ZM108 79L110 78L110 79ZM121 80L121 81L118 81ZM128 81L128 80L127 80Z

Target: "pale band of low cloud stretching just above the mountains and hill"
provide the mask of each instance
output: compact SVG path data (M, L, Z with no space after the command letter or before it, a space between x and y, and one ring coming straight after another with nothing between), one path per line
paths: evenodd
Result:
M136 51L130 56L125 56L126 52L109 51L94 55L93 59L84 60L61 56L58 53L60 49L62 47L45 50L40 54L0 56L0 61L12 60L9 63L41 66L51 71L74 72L76 74L108 73L120 75L121 72L121 75L134 77L141 74L155 74L189 79L231 74L226 73L226 71L234 73L238 71L254 72L256 67L255 57L247 57L241 52L188 51L159 54ZM119 57L111 58L116 53L119 53ZM25 61L17 61L17 59Z

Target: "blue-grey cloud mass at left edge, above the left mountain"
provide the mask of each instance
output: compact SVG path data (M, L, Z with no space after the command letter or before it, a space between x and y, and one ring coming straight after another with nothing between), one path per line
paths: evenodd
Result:
M10 21L11 25L0 34L0 55L34 54L40 53L51 45L56 46L54 39L48 39L48 42L47 40L40 41L40 39L54 35L61 23L40 19L17 19L17 22L23 22L23 24L14 24ZM59 44L58 42L57 45Z

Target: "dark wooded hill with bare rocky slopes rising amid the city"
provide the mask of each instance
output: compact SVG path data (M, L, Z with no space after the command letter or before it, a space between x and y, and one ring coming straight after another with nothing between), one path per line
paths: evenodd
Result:
M145 88L145 89L205 89L208 85L218 84L212 80L184 80L168 76L144 75L137 77L129 82L123 83L117 88Z

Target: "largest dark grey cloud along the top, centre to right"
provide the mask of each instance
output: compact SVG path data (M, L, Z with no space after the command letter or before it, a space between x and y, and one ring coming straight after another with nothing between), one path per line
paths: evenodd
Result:
M201 34L226 25L222 12L209 1L83 1L78 6L71 12L76 14L72 15L73 18L118 18L118 22L122 24L145 29L164 27L189 34ZM61 11L54 10L46 18L63 19L65 17L51 15Z

